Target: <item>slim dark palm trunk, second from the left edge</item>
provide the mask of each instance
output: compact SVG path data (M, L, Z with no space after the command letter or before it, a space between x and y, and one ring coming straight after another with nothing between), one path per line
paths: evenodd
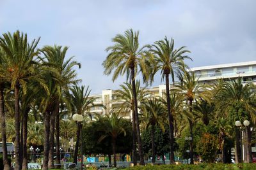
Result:
M19 83L14 88L15 100L15 169L20 169L20 108L19 108Z

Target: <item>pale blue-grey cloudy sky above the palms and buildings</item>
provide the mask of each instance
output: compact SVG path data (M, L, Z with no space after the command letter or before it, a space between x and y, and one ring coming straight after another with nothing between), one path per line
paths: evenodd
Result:
M102 62L111 39L127 29L140 31L140 45L173 38L187 46L190 67L256 60L254 0L0 0L0 34L19 29L44 45L68 46L81 62L77 78L92 94L118 89ZM156 75L153 86L161 83Z

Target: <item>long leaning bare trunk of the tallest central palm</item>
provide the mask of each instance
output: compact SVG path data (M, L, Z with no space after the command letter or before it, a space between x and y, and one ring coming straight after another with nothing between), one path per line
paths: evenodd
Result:
M143 154L143 148L142 148L141 136L140 136L140 122L139 122L139 115L138 115L138 102L137 102L137 97L136 97L134 67L131 67L131 81L132 81L132 98L133 98L133 103L134 103L134 114L135 114L136 127L137 127L136 132L137 132L137 138L138 138L140 165L144 166L145 162L144 162L144 154Z

